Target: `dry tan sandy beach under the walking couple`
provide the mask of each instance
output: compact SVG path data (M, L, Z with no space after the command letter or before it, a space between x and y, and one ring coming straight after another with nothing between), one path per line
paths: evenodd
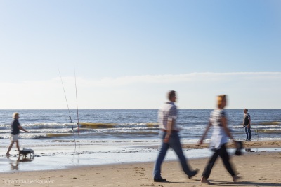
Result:
M184 145L185 148L193 146L196 145ZM280 148L280 141L252 141L246 142L244 146L253 148L251 151L255 148ZM207 159L189 160L192 168L200 169L200 173L192 179L185 176L177 161L164 162L162 176L167 179L166 183L155 183L152 180L154 163L143 162L32 172L6 172L0 174L1 186L207 186L200 183L200 176ZM221 159L218 159L209 178L214 183L212 186L281 186L280 152L246 152L242 156L232 156L231 161L242 179L233 183Z

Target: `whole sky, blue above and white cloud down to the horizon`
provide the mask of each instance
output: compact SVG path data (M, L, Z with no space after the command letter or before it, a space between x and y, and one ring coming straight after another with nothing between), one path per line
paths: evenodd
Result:
M0 109L281 109L279 0L0 0L0 25Z

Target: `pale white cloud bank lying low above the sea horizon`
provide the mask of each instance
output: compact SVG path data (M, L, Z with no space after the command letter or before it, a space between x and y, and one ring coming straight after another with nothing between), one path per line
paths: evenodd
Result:
M231 109L244 107L241 104L252 109L278 109L280 106L276 101L281 91L280 81L281 72L206 72L100 79L77 77L77 90L82 109L156 109L165 99L164 92L169 89L175 89L181 95L181 109L209 109L214 105L213 97L221 93L230 95ZM67 100L73 109L76 107L74 83L74 77L63 77ZM2 109L65 108L60 78L0 82L0 86L3 88L0 92Z

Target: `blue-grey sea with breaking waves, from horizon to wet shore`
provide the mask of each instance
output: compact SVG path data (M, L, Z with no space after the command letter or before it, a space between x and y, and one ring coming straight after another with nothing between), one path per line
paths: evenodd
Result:
M157 110L0 110L0 139L9 139L13 112L20 113L20 139L27 145L158 141ZM199 141L211 110L178 110L177 124L185 143ZM245 139L243 110L227 109L228 126L237 140ZM259 140L281 140L281 110L252 109L251 133ZM70 119L71 118L71 119ZM79 121L79 125L78 125ZM255 137L256 136L256 137ZM208 139L207 139L208 141Z

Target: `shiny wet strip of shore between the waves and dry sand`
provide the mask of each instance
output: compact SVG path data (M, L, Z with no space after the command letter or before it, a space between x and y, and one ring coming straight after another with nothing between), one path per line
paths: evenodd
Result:
M251 152L276 152L281 151L281 141L250 141L243 142L242 152L247 155ZM202 146L197 144L183 144L183 153L188 159L208 158L212 152L209 143ZM233 143L228 143L228 152L233 155L235 148ZM84 166L103 166L119 164L138 164L154 162L156 160L159 145L124 145L124 144L99 144L83 145L79 152L74 151L73 146L48 146L35 151L34 157L27 158L18 155L6 157L0 156L0 172L34 172L54 169L69 169ZM14 151L16 152L16 151ZM168 151L166 161L177 160L174 151Z

